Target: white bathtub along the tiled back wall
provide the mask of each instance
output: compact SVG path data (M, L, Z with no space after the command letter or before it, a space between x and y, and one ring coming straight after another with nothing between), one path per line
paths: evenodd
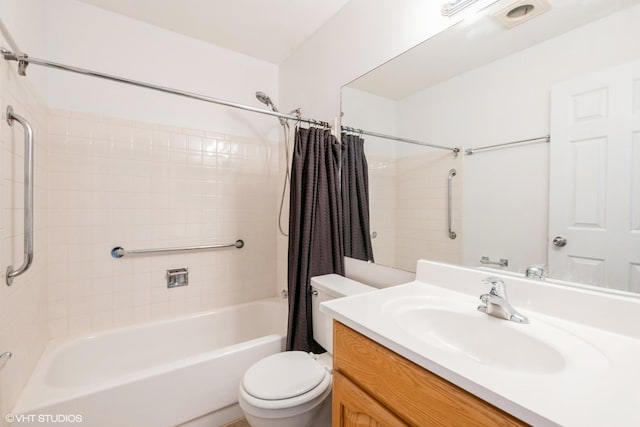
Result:
M16 424L224 424L241 414L246 369L284 350L286 324L286 302L269 299L52 344L14 409Z

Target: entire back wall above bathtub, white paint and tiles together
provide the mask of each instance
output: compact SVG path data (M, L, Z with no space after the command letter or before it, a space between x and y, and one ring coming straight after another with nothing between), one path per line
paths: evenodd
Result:
M47 1L46 17L52 61L256 107L262 90L277 102L274 64L75 0ZM59 71L47 83L52 337L275 295L274 117ZM114 246L237 238L241 251L109 256ZM168 290L166 270L182 266L190 285Z

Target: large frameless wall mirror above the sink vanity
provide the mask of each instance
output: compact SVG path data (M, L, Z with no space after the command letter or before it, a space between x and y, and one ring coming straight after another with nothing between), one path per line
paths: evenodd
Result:
M343 126L463 150L363 136L374 260L640 293L640 0L549 1L508 28L511 3L343 87Z

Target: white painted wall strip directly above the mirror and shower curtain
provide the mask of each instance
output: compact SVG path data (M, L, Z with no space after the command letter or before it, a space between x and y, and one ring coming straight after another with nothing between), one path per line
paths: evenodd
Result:
M455 23L437 0L351 0L280 64L280 99L340 116L340 88Z

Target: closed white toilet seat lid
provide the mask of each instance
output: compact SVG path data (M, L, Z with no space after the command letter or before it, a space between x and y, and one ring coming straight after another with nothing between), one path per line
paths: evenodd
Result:
M311 355L288 351L271 355L249 368L240 384L240 394L256 408L292 408L318 397L322 401L331 392L331 383L331 374Z

